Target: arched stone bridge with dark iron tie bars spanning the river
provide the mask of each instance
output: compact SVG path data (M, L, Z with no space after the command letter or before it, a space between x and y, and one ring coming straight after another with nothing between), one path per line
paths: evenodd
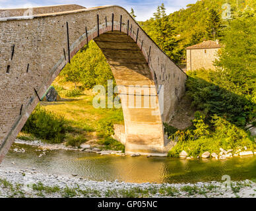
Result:
M132 92L118 89L125 152L164 155L162 123L174 115L187 76L125 9L79 5L0 9L0 29L0 162L40 97L90 40L104 53L118 87L135 87ZM156 106L123 103L137 95L141 102L156 99Z

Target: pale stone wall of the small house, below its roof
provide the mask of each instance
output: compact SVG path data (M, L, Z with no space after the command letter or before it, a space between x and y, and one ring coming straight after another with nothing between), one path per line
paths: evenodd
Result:
M215 69L213 61L219 48L187 49L187 71L197 69Z

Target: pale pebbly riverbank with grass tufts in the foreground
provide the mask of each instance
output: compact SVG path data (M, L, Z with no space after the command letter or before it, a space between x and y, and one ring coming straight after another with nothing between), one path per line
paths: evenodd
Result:
M92 181L77 175L51 175L34 168L13 170L0 167L0 197L256 197L256 183L245 180L222 183L179 184Z

